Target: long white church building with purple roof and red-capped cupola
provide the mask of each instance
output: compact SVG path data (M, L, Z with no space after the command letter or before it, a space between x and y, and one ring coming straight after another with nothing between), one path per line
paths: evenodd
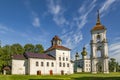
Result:
M24 53L12 56L12 74L64 75L73 73L70 49L62 46L62 40L55 36L51 47L45 53Z

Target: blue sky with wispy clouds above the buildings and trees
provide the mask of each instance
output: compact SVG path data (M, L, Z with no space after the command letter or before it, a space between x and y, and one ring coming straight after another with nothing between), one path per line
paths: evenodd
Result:
M90 30L97 10L107 28L109 56L120 62L120 0L0 0L0 40L6 44L51 46L58 35L75 52L86 46L90 55Z

